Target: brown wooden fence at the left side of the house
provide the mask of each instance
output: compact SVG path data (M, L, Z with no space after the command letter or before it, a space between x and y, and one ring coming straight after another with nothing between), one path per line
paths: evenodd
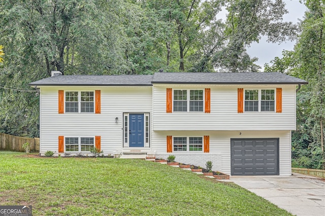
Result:
M0 151L24 152L25 142L30 144L30 152L40 152L40 138L27 138L0 133Z

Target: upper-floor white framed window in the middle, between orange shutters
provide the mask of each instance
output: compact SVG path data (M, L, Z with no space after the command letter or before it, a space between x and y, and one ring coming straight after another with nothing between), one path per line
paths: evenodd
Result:
M204 90L203 89L174 89L173 90L174 112L203 112Z

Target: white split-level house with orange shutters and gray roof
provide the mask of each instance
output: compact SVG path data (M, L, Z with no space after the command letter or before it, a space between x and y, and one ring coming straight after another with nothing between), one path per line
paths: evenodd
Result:
M231 175L291 175L296 89L280 73L52 76L40 88L40 154L175 155ZM299 88L298 88L299 89Z

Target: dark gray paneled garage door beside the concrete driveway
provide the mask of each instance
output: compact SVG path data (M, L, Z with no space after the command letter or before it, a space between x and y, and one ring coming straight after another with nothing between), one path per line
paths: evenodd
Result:
M278 175L279 138L231 139L232 175Z

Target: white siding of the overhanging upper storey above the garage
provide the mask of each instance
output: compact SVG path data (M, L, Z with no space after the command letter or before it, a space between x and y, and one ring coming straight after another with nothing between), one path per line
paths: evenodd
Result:
M166 113L166 88L211 89L211 113ZM282 88L282 113L238 113L238 88ZM295 85L154 85L153 130L295 130Z

